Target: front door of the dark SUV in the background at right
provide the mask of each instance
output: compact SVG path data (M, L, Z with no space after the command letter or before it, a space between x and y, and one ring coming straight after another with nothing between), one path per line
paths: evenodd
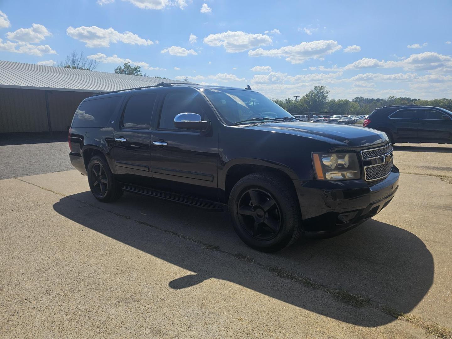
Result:
M444 120L442 117L448 114L433 109L419 109L419 139L424 141L451 141L452 120Z

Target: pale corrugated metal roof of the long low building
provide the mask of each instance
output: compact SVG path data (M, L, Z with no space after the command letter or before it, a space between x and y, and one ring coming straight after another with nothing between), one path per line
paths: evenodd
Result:
M186 81L0 60L0 87L99 92L152 86L162 81L187 84Z

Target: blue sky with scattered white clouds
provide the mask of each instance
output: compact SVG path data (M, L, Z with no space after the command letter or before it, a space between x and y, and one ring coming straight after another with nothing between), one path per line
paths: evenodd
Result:
M271 98L452 98L452 1L0 0L0 59L52 65L72 50L113 72Z

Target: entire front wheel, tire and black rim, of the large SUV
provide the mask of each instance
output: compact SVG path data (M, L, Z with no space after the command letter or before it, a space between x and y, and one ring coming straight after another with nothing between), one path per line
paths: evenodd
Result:
M301 234L297 195L277 174L254 173L240 179L229 196L229 212L237 235L255 250L282 250Z

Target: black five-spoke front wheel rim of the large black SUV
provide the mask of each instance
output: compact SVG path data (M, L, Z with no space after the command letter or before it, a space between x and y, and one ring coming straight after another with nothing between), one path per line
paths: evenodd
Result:
M263 189L252 188L239 199L237 214L240 225L254 239L273 239L281 230L281 210L272 195Z

